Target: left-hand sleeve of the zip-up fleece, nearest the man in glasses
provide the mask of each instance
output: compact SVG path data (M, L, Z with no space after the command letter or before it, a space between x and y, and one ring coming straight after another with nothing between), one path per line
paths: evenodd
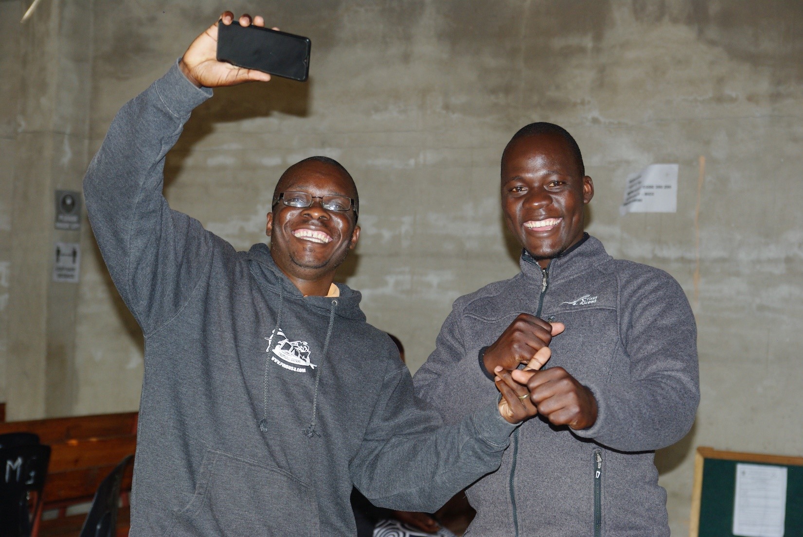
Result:
M479 365L479 347L467 346L460 319L465 298L455 301L443 322L435 350L414 376L415 394L440 413L447 423L456 423L499 391Z

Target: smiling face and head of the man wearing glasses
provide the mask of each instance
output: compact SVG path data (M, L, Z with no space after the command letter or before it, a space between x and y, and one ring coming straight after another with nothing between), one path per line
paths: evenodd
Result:
M265 232L271 238L271 257L296 286L299 282L328 280L349 250L357 246L360 228L353 210L326 210L320 196L357 198L357 189L335 165L302 161L279 179L277 193L305 192L313 197L309 207L290 207L279 201L267 214ZM318 197L315 197L318 196Z

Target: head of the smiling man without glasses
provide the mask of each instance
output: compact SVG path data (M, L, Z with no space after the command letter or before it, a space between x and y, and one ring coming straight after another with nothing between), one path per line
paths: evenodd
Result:
M594 187L564 128L540 122L516 132L502 153L501 188L507 227L540 266L583 237Z

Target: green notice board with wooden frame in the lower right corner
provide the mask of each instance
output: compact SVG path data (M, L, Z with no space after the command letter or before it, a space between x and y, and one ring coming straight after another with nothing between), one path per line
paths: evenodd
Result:
M736 453L697 448L691 498L691 537L731 537L740 462L786 468L784 537L803 535L803 457Z

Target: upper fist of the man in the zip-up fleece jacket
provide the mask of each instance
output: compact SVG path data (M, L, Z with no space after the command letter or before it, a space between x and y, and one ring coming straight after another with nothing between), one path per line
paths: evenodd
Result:
M512 370L527 364L541 348L548 347L552 337L565 330L563 323L548 323L535 315L520 313L502 335L485 350L483 363L491 376L501 366ZM543 364L541 364L543 365Z

